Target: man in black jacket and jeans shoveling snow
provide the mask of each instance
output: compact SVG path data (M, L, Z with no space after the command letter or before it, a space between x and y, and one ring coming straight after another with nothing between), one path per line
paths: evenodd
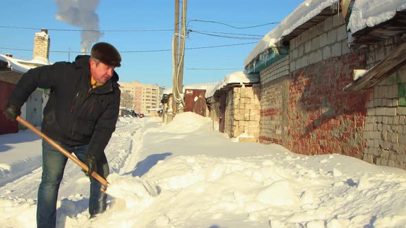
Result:
M120 89L115 67L121 56L109 43L96 43L91 56L77 56L75 62L56 62L30 69L12 91L3 112L10 120L21 115L21 106L36 88L51 89L44 109L45 135L87 166L87 176L109 174L105 147L116 128ZM67 157L43 141L43 174L38 190L36 223L56 227L56 203ZM89 214L91 218L106 209L101 183L90 178Z

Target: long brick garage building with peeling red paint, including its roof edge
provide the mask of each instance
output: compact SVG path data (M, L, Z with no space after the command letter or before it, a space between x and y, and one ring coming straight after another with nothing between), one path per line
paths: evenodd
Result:
M245 62L248 73L259 73L259 142L406 169L405 55L396 56L396 70L381 67L358 87L360 80L354 81L354 70L372 69L399 52L406 41L405 10L348 31L343 7L320 4L309 7L319 11L304 11L310 17L301 24L295 18L305 16L298 15L303 10L295 10L267 35L275 35L275 45L257 52L260 41Z

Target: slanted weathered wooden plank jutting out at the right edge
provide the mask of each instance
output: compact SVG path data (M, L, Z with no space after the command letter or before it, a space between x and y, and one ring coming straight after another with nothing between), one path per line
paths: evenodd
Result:
M392 75L406 65L406 42L398 45L384 60L366 71L361 78L348 84L343 88L343 92L360 92L365 91L381 82L387 76Z

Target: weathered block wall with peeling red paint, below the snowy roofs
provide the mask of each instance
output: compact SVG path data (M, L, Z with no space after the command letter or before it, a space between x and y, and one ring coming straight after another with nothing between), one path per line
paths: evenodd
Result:
M293 38L289 56L260 73L259 141L406 169L406 67L365 92L342 92L354 69L374 67L405 40L350 51L338 14Z

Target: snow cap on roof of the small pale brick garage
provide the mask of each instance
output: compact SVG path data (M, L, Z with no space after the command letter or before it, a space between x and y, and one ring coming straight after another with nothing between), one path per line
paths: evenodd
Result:
M206 98L210 98L214 95L215 91L222 89L227 84L243 84L259 82L259 76L257 74L246 74L245 71L237 71L226 74L226 77L221 82L218 82L216 87L211 91L206 91Z

